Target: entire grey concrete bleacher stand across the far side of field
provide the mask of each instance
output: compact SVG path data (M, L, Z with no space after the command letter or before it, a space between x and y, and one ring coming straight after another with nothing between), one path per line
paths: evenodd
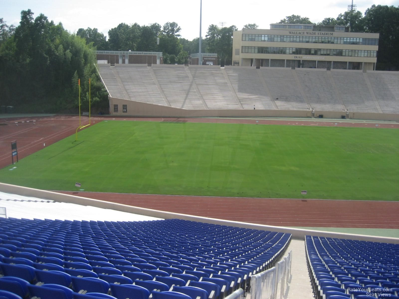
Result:
M111 106L126 104L132 115L309 117L314 109L315 117L399 120L399 72L118 64L97 69Z

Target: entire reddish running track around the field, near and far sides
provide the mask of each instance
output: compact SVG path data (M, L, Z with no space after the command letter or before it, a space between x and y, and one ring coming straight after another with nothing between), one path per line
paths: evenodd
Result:
M105 118L92 118L98 122ZM255 124L255 119L234 118L112 118L132 121L212 122ZM26 122L26 121L30 122ZM33 124L32 120L36 120ZM22 123L22 121L24 121ZM18 126L15 122L18 122ZM34 153L43 144L48 146L75 133L79 125L77 116L49 116L1 119L0 168L10 164L10 143L18 142L20 159ZM87 124L82 117L82 124ZM399 128L399 124L378 122L269 120L259 119L258 124L285 124L300 126L345 126ZM259 199L228 197L190 197L174 195L144 195L124 193L88 193L60 191L93 199L122 203L137 207L206 216L226 220L252 222L279 226L395 228L399 229L399 202L389 201L339 201L318 199Z

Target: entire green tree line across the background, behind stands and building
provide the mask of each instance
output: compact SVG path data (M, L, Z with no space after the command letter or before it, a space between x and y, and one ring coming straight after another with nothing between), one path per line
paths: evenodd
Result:
M373 5L361 14L353 10L318 24L309 18L287 16L279 24L350 26L354 32L380 33L378 70L399 69L399 6ZM258 25L244 26L256 29ZM217 53L221 66L231 65L233 31L237 27L209 25L201 41L202 53ZM163 52L164 63L186 64L188 56L198 53L199 38L180 36L176 22L140 26L121 23L108 31L80 28L69 33L61 23L54 24L31 10L21 12L21 22L8 26L0 18L0 105L12 105L16 111L68 112L78 108L78 79L81 79L81 103L88 108L91 78L92 108L108 111L107 91L97 70L96 50ZM157 43L159 39L159 43Z

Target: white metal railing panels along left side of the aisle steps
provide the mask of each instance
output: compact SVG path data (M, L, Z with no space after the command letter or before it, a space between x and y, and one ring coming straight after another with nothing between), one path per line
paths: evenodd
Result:
M291 275L292 250L275 267L251 276L251 299L277 299L280 283L280 299Z

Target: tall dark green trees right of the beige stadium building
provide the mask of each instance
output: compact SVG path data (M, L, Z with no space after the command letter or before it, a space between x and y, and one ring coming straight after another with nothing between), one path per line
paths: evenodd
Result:
M365 32L379 32L378 70L399 69L399 7L372 5L364 14Z

